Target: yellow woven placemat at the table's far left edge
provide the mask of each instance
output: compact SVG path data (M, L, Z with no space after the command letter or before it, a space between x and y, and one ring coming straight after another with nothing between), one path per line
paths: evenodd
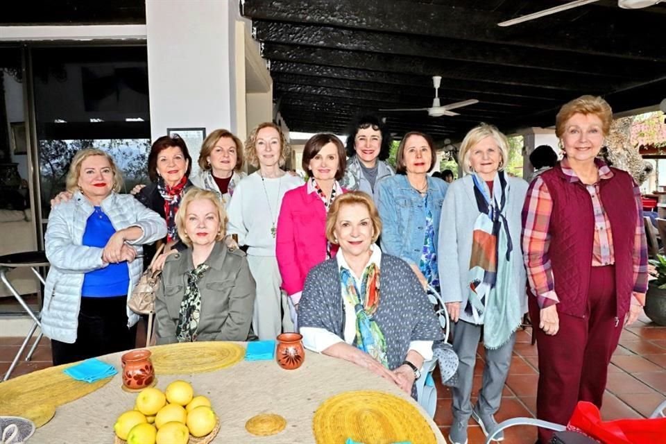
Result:
M72 365L76 364L45 368L0 384L0 416L22 416L35 422L35 427L42 427L53 418L58 406L83 398L113 379L76 381L62 373Z

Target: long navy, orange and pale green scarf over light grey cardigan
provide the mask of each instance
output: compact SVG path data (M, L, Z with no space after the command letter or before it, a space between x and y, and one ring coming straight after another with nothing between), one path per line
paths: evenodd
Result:
M499 348L520 326L520 299L515 291L513 241L504 210L509 184L498 171L490 196L488 185L476 174L474 194L479 216L472 234L472 255L468 272L469 297L466 313L484 325L484 346ZM520 252L519 252L520 253ZM520 255L517 260L522 260Z

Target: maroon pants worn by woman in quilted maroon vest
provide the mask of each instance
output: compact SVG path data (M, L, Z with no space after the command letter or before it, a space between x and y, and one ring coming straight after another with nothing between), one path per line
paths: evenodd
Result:
M539 352L538 419L566 425L578 401L601 408L608 364L620 340L624 319L615 320L615 267L592 267L584 318L558 313L560 329L549 336L539 328L536 298L529 298ZM541 443L552 433L539 429Z

